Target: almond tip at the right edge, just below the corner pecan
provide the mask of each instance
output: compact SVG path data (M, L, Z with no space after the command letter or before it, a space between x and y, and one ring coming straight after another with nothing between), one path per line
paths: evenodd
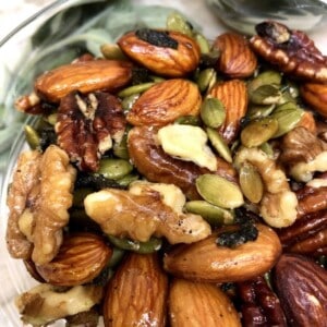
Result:
M327 84L302 84L300 94L312 109L315 109L324 118L327 118Z

